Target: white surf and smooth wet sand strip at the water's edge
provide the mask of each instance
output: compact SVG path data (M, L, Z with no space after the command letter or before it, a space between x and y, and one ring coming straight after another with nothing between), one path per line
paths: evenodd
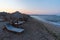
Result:
M38 21L42 22L49 30L55 32L55 33L60 33L60 24L54 23L54 22L50 22L50 21L46 21L42 18L39 18L37 16L31 16L35 19L37 19Z

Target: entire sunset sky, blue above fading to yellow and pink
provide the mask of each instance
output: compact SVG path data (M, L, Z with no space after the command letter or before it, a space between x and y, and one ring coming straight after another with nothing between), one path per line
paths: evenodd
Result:
M0 0L0 12L60 14L60 0Z

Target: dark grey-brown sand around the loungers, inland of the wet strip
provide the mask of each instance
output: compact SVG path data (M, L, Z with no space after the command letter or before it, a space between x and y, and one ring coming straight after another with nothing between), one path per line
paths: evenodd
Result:
M29 18L28 21L20 25L25 31L22 34L15 34L2 30L4 24L7 22L0 22L0 40L55 40L56 38L48 33L46 30L47 24L43 24L34 18ZM46 26L47 25L47 26ZM50 26L50 25L49 25Z

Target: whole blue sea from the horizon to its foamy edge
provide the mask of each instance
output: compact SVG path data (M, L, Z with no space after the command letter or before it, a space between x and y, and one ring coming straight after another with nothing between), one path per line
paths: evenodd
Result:
M60 26L60 15L31 15L38 20Z

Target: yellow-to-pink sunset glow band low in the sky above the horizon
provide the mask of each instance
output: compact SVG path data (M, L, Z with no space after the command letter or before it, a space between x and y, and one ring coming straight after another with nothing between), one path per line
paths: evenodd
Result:
M25 13L25 14L43 14L43 13L57 13L58 11L51 11L51 10L28 10L28 9L13 9L13 8L0 8L1 12L15 12L15 11L19 11L21 13Z

